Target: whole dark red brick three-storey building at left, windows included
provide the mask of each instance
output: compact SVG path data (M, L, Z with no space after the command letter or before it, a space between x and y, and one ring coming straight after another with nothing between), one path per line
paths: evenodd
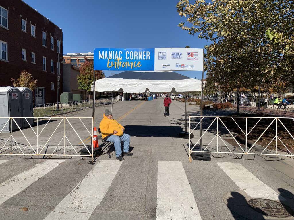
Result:
M13 86L11 78L26 70L38 80L34 104L56 102L58 72L62 91L61 28L21 0L0 0L0 11L0 86Z

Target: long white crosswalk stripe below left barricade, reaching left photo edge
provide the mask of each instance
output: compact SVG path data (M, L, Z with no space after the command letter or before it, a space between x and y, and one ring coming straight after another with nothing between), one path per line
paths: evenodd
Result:
M0 184L0 204L29 187L64 160L46 160Z

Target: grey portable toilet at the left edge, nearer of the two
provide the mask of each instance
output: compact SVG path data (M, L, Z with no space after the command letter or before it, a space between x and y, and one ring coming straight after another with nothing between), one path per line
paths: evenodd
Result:
M12 86L0 87L0 117L21 117L21 92L18 88ZM9 132L18 129L15 122L12 121L12 128L10 122L6 124L8 119L0 119L0 131ZM21 119L14 119L21 128ZM6 126L5 126L6 124Z

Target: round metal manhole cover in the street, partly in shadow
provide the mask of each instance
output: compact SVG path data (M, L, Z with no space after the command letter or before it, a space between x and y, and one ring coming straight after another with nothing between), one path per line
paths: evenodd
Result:
M268 216L285 218L293 215L290 207L270 199L250 199L248 205L255 211L266 213Z

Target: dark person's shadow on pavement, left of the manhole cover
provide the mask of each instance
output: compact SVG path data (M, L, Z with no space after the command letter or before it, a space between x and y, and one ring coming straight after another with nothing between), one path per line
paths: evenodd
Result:
M252 209L245 197L238 192L231 192L231 197L227 199L227 206L235 220L265 220L263 216L267 216L261 210L259 213Z

